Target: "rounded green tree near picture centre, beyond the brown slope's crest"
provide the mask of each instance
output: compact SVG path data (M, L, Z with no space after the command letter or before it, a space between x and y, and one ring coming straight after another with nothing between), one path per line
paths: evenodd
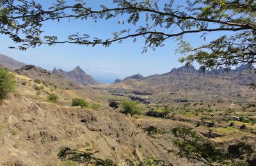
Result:
M124 114L131 114L131 116L133 116L134 114L142 114L140 108L137 106L136 102L132 102L129 100L124 100L121 103L121 107L123 109L122 113Z

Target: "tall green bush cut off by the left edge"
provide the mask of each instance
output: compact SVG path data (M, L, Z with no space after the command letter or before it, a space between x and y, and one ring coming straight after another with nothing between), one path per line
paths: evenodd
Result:
M15 75L0 66L0 100L6 98L7 93L15 91Z

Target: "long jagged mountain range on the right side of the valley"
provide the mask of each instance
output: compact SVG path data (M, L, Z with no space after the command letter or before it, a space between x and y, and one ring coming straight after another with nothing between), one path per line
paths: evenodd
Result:
M152 92L158 100L164 101L209 101L218 98L255 100L253 90L248 87L248 84L256 83L255 69L248 67L248 64L242 64L228 72L224 68L219 68L204 73L202 70L196 70L194 66L182 66L161 75L132 75L110 87L129 89L131 92Z

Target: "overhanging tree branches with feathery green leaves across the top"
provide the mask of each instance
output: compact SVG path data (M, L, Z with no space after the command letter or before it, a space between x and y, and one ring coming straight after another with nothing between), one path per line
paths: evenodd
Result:
M57 43L92 46L101 44L108 47L113 42L122 43L128 38L133 38L135 42L138 37L142 37L145 39L143 52L147 52L148 48L155 50L157 47L163 47L164 41L177 38L180 41L177 53L184 54L180 61L198 61L202 70L255 63L256 1L188 0L186 4L179 2L124 0L118 1L111 8L100 5L100 10L93 10L92 6L82 0L58 0L49 8L34 0L0 0L0 33L20 43L20 50ZM67 36L67 40L60 40L60 36L49 36L41 30L45 22L67 18L95 22L100 19L118 19L118 24L127 24L128 29L114 32L113 37L105 39L75 33ZM142 21L139 25L141 19L145 22ZM204 40L209 33L218 36L220 31L229 33L198 47L192 47L188 41L184 41L186 34L202 35Z

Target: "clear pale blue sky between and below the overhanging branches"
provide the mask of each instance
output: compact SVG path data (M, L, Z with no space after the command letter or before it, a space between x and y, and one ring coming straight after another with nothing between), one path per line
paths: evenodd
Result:
M72 0L67 0L71 2ZM38 0L43 6L47 6L50 1ZM52 1L51 1L52 2ZM185 1L179 1L184 3ZM99 8L99 4L113 6L112 0L90 0L86 1L88 6ZM125 19L125 18L124 18ZM144 24L141 20L140 24ZM100 38L109 38L111 33L127 29L136 28L131 25L119 25L117 20L61 20L60 22L45 22L43 30L50 35L61 36L63 40L69 34L76 32L98 36ZM215 36L208 36L208 40ZM186 36L193 44L200 45L204 43L201 38L195 34ZM124 79L127 76L140 73L141 75L154 75L167 73L172 68L178 68L184 64L179 63L179 55L175 56L177 41L168 40L164 47L159 47L155 51L148 50L147 53L141 54L142 47L145 43L142 38L138 38L136 43L131 40L124 40L122 44L113 43L110 47L95 47L61 44L61 45L42 45L35 49L20 51L17 49L8 49L9 46L15 46L8 36L0 35L0 54L13 57L17 61L26 64L35 64L46 70L53 70L54 67L70 71L80 66L84 72L90 74L99 82L110 84L115 79ZM198 64L195 64L198 68Z

